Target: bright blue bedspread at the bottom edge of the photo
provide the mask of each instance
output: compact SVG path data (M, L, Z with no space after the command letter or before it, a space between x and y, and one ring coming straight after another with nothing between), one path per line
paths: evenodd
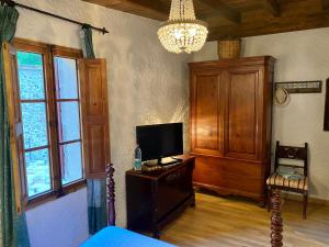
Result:
M134 232L107 226L89 238L80 247L177 247Z

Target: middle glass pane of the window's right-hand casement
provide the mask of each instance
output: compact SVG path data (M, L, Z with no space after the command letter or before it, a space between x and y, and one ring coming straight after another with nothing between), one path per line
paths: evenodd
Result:
M60 142L80 139L78 102L58 102Z

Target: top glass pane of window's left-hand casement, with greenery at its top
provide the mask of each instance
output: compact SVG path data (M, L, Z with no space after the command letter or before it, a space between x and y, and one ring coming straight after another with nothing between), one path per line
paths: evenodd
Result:
M18 52L21 100L45 99L43 56Z

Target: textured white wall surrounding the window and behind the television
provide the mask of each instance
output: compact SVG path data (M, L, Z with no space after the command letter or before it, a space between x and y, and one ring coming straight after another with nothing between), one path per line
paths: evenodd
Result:
M124 175L133 164L135 126L175 121L188 124L188 57L161 47L157 38L159 23L152 20L80 0L18 2L110 31L106 35L94 33L93 40L97 57L107 60L117 223L124 226ZM79 26L27 10L19 11L18 37L80 47ZM32 247L76 247L88 237L86 190L30 210L26 216Z

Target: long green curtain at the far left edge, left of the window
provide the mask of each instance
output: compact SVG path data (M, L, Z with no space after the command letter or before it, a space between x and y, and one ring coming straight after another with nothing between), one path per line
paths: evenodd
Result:
M0 221L3 247L30 247L25 214L18 214L10 150L2 43L11 42L19 19L13 7L0 5Z

